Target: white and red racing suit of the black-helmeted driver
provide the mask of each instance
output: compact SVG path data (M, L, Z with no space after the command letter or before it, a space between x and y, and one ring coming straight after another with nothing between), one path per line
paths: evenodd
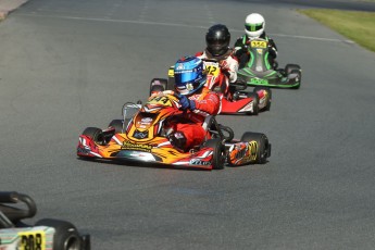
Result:
M217 83L221 87L221 92L227 93L229 84L237 80L238 61L237 58L233 55L234 51L228 49L228 51L220 57L212 55L207 49L202 52L196 53L197 58L200 59L214 59L218 62L221 71L223 74L218 76Z

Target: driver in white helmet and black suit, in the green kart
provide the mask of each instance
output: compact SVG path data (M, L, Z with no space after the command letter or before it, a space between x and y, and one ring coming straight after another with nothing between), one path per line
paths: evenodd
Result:
M250 60L250 53L248 52L248 46L250 41L255 38L262 38L268 41L268 62L274 70L277 70L277 48L273 39L271 39L264 32L265 21L259 13L251 13L246 16L245 20L245 35L238 38L235 42L235 55L240 61L240 67L242 67Z

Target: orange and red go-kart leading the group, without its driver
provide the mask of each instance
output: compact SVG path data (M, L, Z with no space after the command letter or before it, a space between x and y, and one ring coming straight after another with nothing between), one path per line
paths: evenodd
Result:
M182 122L186 111L179 110L173 91L152 95L145 104L127 102L123 118L113 120L109 127L87 127L79 136L77 155L84 159L133 161L183 168L221 170L229 165L265 163L271 143L261 133L245 133L234 139L233 130L208 116L202 125L207 139L187 152L168 140L166 124ZM228 153L230 149L230 153Z

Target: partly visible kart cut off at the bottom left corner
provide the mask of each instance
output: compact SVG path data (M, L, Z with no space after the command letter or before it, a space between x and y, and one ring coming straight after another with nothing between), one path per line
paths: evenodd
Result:
M25 209L16 204L26 205ZM43 218L26 225L37 212L34 200L18 192L0 192L0 249L89 250L90 236L79 235L70 222Z

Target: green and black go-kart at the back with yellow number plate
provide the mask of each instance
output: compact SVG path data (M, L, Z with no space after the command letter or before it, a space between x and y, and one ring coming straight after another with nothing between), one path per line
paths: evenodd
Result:
M257 38L248 46L248 57L239 58L238 77L249 86L266 86L274 88L298 89L301 85L301 67L298 64L287 64L285 68L275 70L268 62L268 41ZM276 66L277 67L277 66Z

